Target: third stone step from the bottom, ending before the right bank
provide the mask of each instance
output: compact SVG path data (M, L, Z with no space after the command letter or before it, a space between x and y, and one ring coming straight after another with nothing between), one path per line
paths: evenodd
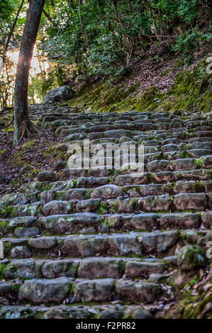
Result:
M91 257L86 259L13 259L1 264L1 278L149 278L164 273L167 265L161 259Z

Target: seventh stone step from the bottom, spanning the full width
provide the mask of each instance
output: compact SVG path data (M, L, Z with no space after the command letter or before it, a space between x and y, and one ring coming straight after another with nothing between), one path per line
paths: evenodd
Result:
M97 188L71 188L69 182L60 182L57 185L61 190L53 191L52 186L49 189L42 190L40 183L30 183L32 193L10 193L1 196L0 204L26 205L28 203L49 203L50 201L84 201L90 198L111 199L121 196L129 198L140 198L145 196L161 196L164 194L174 195L179 193L210 193L212 192L212 181L177 181L169 184L143 184L143 185L104 185ZM44 186L45 187L45 186ZM24 187L25 188L25 187ZM3 207L3 206L2 206Z

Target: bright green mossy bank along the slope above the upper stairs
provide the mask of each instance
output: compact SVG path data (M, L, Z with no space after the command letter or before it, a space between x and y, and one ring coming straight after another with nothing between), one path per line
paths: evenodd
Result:
M91 108L94 112L117 111L210 111L212 103L211 75L206 73L206 60L194 68L177 74L169 91L163 92L151 86L140 96L139 83L124 89L121 84L113 86L109 81L104 84L84 84L72 101L64 105ZM176 68L173 67L173 71Z

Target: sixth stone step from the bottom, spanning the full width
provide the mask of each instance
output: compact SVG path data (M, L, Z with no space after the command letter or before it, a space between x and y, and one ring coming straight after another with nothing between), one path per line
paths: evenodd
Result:
M91 192L91 199L83 201L45 200L51 193L42 193L43 201L29 204L7 205L1 204L0 218L16 218L21 216L50 216L70 214L75 212L94 211L98 213L155 213L177 211L205 211L212 208L212 193L179 193L174 196L164 194L160 196L145 196L128 198L120 188L121 196L110 199L111 193L101 194L100 188ZM104 189L103 189L104 191ZM105 190L106 191L106 190ZM101 196L101 198L99 198ZM109 199L107 200L106 197ZM103 200L102 200L103 198Z

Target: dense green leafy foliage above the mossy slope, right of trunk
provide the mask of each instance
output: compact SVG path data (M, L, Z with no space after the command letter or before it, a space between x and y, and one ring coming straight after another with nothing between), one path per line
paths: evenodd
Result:
M57 16L55 25L47 25L40 47L60 67L62 82L76 77L126 76L133 58L145 55L154 40L164 43L176 32L176 43L172 46L168 39L167 47L182 52L187 64L196 47L211 40L209 26L207 32L198 26L202 16L210 13L210 1L87 0L80 9L78 0L66 6L56 1L54 8L50 1L46 5Z

